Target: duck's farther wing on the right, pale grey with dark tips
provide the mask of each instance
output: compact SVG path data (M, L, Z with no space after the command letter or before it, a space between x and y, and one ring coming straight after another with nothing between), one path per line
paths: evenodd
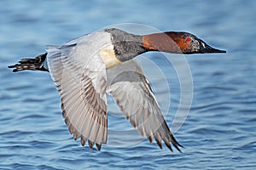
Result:
M163 140L170 150L170 143L179 150L181 145L167 126L141 66L134 60L126 61L108 69L107 77L107 92L113 96L131 125L137 127L143 136L146 135L150 142L154 137L160 148Z

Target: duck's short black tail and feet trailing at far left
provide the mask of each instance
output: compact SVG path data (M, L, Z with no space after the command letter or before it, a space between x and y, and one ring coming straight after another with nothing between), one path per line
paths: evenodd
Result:
M15 68L13 71L24 71L24 70L32 70L32 71L48 71L44 68L44 61L46 59L45 54L38 55L34 59L21 59L19 64L9 65L9 68Z

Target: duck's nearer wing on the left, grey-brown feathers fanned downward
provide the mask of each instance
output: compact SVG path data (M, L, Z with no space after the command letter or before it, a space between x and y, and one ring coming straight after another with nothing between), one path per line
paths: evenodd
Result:
M62 115L73 138L90 148L107 142L106 67L97 54L84 55L88 44L49 48L49 73L61 94Z

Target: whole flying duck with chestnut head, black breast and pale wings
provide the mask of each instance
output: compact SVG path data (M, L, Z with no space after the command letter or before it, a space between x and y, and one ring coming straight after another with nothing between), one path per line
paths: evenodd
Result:
M95 31L45 54L9 65L16 71L49 71L61 95L62 116L73 139L90 149L107 143L110 94L124 116L150 143L155 139L172 150L182 147L160 111L148 80L133 58L148 51L172 54L225 53L188 32L166 31L134 35L116 28Z

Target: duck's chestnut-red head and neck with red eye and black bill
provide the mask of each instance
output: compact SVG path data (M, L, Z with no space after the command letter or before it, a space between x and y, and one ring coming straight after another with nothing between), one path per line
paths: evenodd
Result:
M143 36L143 47L151 51L174 54L226 53L212 48L198 37L188 32L168 31Z

